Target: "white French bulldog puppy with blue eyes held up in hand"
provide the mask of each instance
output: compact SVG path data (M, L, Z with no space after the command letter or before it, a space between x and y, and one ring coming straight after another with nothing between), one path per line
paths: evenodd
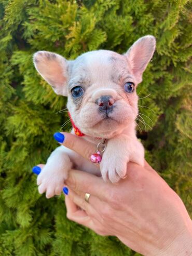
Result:
M144 148L135 132L136 87L142 82L155 46L155 37L147 35L138 39L124 55L95 50L68 61L53 52L34 54L38 73L58 95L68 97L67 109L75 126L85 134L83 139L95 143L95 148L106 140L101 172L91 161L59 146L38 175L39 193L46 192L47 198L59 195L72 167L101 174L105 181L115 183L126 177L128 161L144 165Z

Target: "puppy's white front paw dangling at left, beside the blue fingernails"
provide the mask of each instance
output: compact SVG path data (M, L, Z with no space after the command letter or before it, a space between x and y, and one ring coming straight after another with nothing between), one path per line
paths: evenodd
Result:
M67 178L68 169L57 168L49 163L45 165L43 170L37 177L38 192L43 194L46 192L46 197L50 198L54 195L60 195L64 185L64 180Z

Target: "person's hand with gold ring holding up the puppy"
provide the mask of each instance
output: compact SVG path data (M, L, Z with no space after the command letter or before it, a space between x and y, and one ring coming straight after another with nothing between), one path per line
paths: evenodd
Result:
M89 158L95 151L90 142L69 133L64 135L63 145L80 155ZM66 185L68 219L100 235L115 235L143 255L192 254L192 224L186 208L146 162L144 168L129 163L127 178L118 184L71 170ZM89 203L85 193L91 195Z

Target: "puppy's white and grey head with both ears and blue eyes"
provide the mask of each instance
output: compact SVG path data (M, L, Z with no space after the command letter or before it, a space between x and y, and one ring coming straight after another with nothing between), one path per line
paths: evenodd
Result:
M147 35L120 55L97 50L73 61L38 51L34 65L53 90L68 97L67 107L75 125L85 134L111 138L138 115L136 87L153 56L155 38Z

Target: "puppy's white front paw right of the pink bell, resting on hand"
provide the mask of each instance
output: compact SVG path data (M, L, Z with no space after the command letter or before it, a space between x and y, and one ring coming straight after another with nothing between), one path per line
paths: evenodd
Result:
M101 174L104 181L109 179L111 182L116 183L126 177L129 158L116 155L112 156L112 154L106 153L103 155L100 164Z

